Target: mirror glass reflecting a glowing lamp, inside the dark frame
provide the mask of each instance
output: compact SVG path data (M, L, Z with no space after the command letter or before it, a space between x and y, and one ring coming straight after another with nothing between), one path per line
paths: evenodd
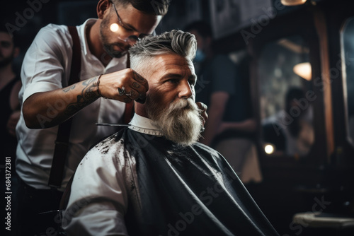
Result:
M314 143L309 47L299 36L266 44L258 64L263 151L300 158Z

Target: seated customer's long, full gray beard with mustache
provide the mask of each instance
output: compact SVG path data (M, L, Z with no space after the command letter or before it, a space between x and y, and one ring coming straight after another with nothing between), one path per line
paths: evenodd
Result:
M168 109L147 98L147 115L167 139L188 146L198 141L202 129L200 110L191 99L178 99Z

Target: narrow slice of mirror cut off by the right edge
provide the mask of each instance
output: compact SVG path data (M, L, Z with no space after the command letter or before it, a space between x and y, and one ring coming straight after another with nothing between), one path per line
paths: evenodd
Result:
M347 134L354 145L354 17L346 20L341 32L341 41Z

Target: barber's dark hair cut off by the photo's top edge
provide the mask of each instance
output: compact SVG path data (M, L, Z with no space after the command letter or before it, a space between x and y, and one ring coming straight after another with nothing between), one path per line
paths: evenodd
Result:
M112 0L114 4L127 6L127 4L132 4L132 6L144 13L152 14L156 16L165 16L171 0Z

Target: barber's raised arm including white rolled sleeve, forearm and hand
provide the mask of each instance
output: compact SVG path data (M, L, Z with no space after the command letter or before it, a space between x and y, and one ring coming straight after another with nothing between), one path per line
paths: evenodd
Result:
M147 81L132 69L101 76L101 93L98 75L84 74L87 80L63 88L62 81L69 76L71 66L71 45L64 28L48 26L39 31L28 48L21 70L23 117L28 128L60 124L101 96L122 102L144 101ZM118 88L123 86L126 93L131 92L129 98L119 95Z

